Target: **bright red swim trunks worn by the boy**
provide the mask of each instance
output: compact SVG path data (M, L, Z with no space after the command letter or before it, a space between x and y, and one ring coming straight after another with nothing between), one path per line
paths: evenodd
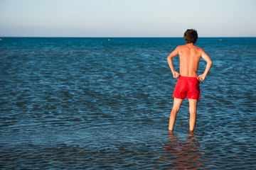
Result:
M199 80L196 77L178 77L174 89L174 98L190 98L200 100L200 86Z

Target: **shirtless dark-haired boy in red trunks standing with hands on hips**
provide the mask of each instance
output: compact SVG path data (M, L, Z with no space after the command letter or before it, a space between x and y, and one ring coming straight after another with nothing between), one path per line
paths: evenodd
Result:
M184 40L186 45L180 45L171 52L167 57L169 67L175 78L178 78L174 89L174 106L171 109L171 115L169 120L169 130L174 130L174 123L176 120L176 114L181 107L181 103L185 98L188 98L189 103L189 130L193 132L196 125L196 108L198 100L200 100L200 87L199 80L203 81L208 74L211 65L213 64L210 57L200 47L196 47L194 44L198 38L196 30L188 29L184 33ZM172 60L174 57L179 56L180 70L179 73L175 71ZM206 69L198 76L198 64L200 58L203 58L207 62Z

